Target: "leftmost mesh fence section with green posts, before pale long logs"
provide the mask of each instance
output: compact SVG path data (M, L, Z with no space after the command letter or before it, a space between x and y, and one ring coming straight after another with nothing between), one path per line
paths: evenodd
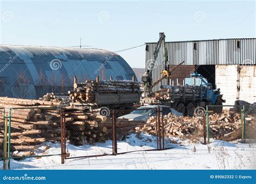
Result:
M48 149L60 140L60 108L4 108L3 169L10 169L11 160L51 157ZM3 133L3 134L2 134ZM58 145L57 145L58 147Z

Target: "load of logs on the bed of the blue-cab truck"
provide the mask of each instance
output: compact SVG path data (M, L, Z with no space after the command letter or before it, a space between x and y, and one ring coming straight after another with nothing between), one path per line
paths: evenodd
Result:
M155 96L159 100L180 100L183 98L183 93L185 98L191 98L193 95L195 97L200 96L200 87L199 86L160 86L161 90L155 92ZM202 87L202 90L205 90L205 87Z

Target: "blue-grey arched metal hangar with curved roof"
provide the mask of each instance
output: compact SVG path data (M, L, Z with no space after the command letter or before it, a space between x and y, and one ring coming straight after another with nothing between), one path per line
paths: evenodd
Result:
M66 93L74 76L83 82L97 75L100 80L131 80L135 74L120 55L103 49L0 45L0 96Z

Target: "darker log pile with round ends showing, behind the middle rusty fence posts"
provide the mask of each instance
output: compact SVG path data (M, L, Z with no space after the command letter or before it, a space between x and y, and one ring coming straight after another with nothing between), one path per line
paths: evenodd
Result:
M98 112L66 112L66 131L70 144L84 145L112 139L112 119ZM68 120L68 121L67 121ZM117 119L117 136L122 139L143 122Z

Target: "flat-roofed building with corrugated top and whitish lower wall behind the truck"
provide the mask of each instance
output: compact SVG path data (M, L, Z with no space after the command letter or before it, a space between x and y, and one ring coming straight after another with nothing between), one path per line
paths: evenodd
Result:
M146 69L149 69L157 43L146 45ZM196 69L220 88L226 104L256 103L256 38L173 41L166 42L166 47L170 67L185 61L173 71L170 84L182 84L182 80ZM160 78L163 69L164 56L160 50L153 68L153 82ZM180 75L183 75L182 79ZM177 82L176 77L179 79ZM159 90L161 84L167 84L167 80L162 81L153 90Z

